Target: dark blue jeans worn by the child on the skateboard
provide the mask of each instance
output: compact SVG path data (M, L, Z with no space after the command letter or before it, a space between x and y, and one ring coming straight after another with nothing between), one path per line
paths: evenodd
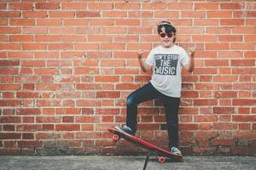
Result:
M178 124L177 124L177 112L180 103L180 98L172 98L161 94L156 90L150 82L138 88L136 91L131 93L126 102L126 125L131 129L137 131L137 105L144 101L160 99L163 102L166 112L167 131L169 136L169 148L173 146L177 147L178 143Z

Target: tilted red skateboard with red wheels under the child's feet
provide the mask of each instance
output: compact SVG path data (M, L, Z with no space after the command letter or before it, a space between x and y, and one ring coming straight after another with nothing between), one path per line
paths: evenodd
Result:
M166 157L171 158L175 161L180 161L183 158L183 156L174 155L168 150L164 150L154 144L150 144L146 140L139 139L139 138L132 136L131 134L128 134L128 133L123 133L115 127L109 127L108 131L110 133L113 133L113 138L112 138L113 143L116 143L119 139L122 138L122 139L129 141L131 144L137 144L137 145L143 147L144 149L149 150L153 155L157 156L158 161L160 163L164 163L166 161Z

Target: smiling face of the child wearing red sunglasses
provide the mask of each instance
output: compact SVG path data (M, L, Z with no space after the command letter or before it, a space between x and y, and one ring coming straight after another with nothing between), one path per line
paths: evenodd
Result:
M172 47L173 39L175 37L174 32L168 32L167 33L165 27L162 27L161 31L160 31L160 34L159 34L159 37L160 37L161 45L164 48Z

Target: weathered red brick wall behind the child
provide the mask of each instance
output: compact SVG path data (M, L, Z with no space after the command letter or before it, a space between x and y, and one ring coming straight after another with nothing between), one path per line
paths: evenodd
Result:
M180 145L186 154L253 155L256 3L81 0L0 3L0 155L140 153L112 144L125 99L148 82L137 49L159 44L162 19L196 44L183 72ZM137 136L166 147L158 100L140 106ZM144 151L144 150L143 150Z

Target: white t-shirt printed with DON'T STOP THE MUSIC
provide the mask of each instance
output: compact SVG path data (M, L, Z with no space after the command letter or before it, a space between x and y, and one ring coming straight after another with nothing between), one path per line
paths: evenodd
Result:
M189 64L185 50L177 45L172 48L158 46L150 51L146 63L154 66L150 80L154 88L167 96L180 98L182 65Z

